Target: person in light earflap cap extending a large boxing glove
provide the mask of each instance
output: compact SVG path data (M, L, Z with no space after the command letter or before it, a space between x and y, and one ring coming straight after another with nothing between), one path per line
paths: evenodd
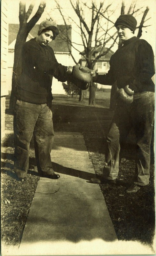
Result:
M65 82L74 80L86 86L92 77L79 70L79 66L66 67L59 64L49 42L59 34L52 20L44 20L38 35L26 42L22 48L22 72L17 82L14 108L14 171L21 182L25 182L29 167L29 145L34 138L35 157L39 175L58 179L51 162L54 139L52 122L52 78ZM86 89L86 87L85 87Z

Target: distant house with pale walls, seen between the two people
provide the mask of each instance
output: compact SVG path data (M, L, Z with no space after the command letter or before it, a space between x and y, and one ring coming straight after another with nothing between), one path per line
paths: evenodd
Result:
M92 47L92 49L94 49L94 47ZM101 52L101 49L102 49L102 46L101 46L101 44L99 44L96 47L96 49L94 50L93 55L91 56L92 60L94 60L99 55L99 53ZM107 52L107 50L108 50L108 48L106 47L104 49L104 51ZM86 65L86 60L83 57L84 52L81 52L80 54L81 54L81 58L79 60L79 64L82 65L82 66L85 66ZM101 57L96 62L95 66L94 66L94 71L96 71L97 73L99 73L101 75L106 74L108 72L109 68L110 68L110 64L109 64L110 57L113 54L114 54L114 52L110 50L109 52L106 53L106 55ZM106 86L102 85L102 84L97 84L97 88L104 88L104 87L106 87Z

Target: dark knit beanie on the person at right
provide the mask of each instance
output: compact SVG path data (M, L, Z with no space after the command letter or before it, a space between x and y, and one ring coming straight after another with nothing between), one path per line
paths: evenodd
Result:
M123 25L134 32L137 27L137 20L131 14L121 14L114 26L117 27L118 25Z

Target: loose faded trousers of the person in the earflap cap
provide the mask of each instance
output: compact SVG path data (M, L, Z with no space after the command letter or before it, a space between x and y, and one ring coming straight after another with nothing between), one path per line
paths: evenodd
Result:
M17 100L14 108L14 171L19 178L27 175L32 135L39 175L53 174L50 157L54 140L52 111L47 104Z

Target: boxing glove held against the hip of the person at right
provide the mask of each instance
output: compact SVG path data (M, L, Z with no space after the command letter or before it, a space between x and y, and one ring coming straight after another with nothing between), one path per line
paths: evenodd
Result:
M122 101L126 104L131 104L133 102L134 91L132 91L128 86L129 85L126 85L124 88L117 90L115 95L117 101Z

